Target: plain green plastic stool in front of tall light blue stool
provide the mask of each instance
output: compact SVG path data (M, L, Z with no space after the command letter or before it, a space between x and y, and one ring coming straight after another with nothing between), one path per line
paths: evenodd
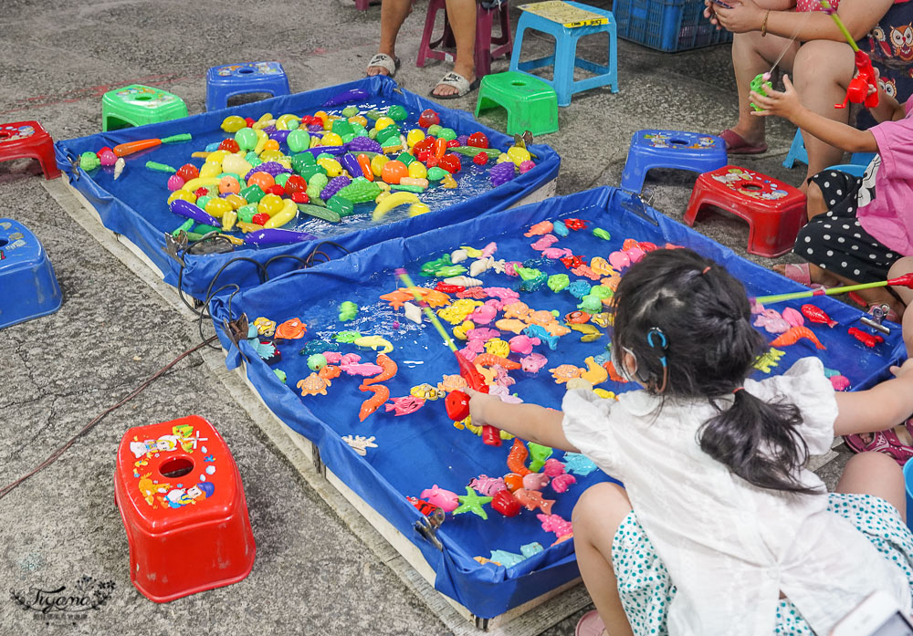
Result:
M480 110L493 106L508 111L509 135L558 131L558 96L540 78L517 71L486 75L478 89L476 117Z

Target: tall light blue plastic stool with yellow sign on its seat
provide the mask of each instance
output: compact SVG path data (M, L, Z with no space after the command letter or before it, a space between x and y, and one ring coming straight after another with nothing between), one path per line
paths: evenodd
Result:
M551 85L558 95L559 106L570 106L573 93L579 93L582 90L595 89L600 86L610 86L612 92L618 92L618 37L615 33L615 19L611 11L599 9L594 6L582 5L577 2L567 2L578 9L590 11L600 16L608 18L608 23L604 25L591 26L572 26L567 27L557 22L537 16L536 14L524 11L519 16L517 24L517 33L514 35L513 53L510 56L510 70L528 72L533 68L542 68L553 66L552 78L540 78L542 81ZM523 8L520 6L520 8ZM520 62L520 49L523 47L523 36L527 29L548 33L555 38L555 52L551 56L531 59L528 62ZM609 64L603 66L595 64L589 60L577 57L577 40L582 36L592 36L595 33L609 34ZM574 81L574 67L588 70L596 73L593 78L584 78ZM536 76L539 77L539 76Z

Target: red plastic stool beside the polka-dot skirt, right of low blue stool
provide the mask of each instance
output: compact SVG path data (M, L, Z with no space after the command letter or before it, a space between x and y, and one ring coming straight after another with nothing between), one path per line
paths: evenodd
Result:
M747 221L748 252L768 258L789 252L808 220L803 193L766 174L738 166L723 166L698 177L685 223L694 225L708 205Z

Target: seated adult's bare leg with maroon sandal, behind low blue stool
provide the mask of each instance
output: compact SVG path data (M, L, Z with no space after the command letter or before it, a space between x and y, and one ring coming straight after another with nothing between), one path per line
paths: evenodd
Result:
M761 3L759 3L761 4ZM751 115L751 80L771 70L782 54L779 67L792 71L792 60L799 45L785 37L761 33L737 33L732 36L732 66L735 68L736 88L739 90L739 123L730 130L751 145L764 142L764 118Z

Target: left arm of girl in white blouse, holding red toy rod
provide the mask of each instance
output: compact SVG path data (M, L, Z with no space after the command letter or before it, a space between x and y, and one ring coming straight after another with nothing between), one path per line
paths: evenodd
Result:
M561 451L580 453L568 442L561 428L564 414L538 404L508 404L497 395L465 390L469 395L469 415L474 426L490 424L520 439Z

